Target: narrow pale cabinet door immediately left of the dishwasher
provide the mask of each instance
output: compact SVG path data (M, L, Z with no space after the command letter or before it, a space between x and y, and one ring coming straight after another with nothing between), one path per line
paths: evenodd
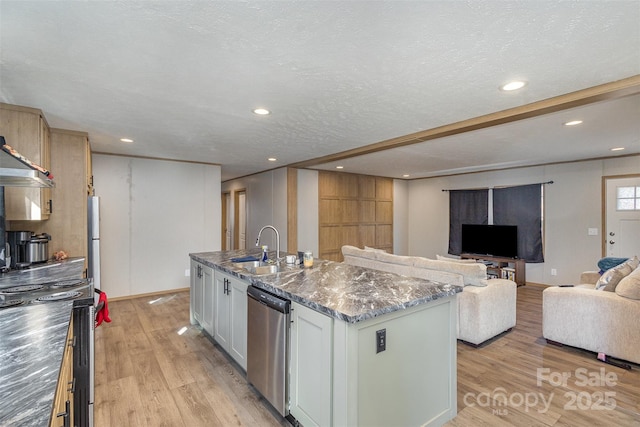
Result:
M247 370L247 288L249 284L236 277L230 279L231 333L229 354Z

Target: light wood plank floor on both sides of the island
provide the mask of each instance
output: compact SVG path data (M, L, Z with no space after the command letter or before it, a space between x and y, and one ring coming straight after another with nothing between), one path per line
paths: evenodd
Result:
M189 325L188 292L113 301L109 309L112 322L96 329L97 427L289 425ZM540 288L518 288L517 310L510 333L477 349L458 343L458 416L447 426L640 426L640 366L625 371L546 344ZM538 385L539 369L546 371ZM562 374L571 375L565 384L550 384ZM605 397L615 407L596 409Z

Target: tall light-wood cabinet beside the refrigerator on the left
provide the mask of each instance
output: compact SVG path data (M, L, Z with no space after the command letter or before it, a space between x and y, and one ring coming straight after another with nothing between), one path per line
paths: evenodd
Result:
M64 250L71 257L87 257L87 197L91 185L91 150L86 132L51 129L51 189L53 212L46 221L11 221L10 230L51 235L49 254ZM7 189L5 189L7 190Z

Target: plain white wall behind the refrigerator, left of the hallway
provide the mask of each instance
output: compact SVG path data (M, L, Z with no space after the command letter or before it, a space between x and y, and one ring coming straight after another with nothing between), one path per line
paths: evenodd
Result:
M220 166L94 154L102 289L186 288L190 252L220 249Z

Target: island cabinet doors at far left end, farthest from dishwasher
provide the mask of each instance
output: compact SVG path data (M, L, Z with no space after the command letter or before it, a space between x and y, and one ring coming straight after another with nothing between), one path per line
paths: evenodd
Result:
M199 323L213 335L214 325L214 283L213 269L191 260L191 323Z

